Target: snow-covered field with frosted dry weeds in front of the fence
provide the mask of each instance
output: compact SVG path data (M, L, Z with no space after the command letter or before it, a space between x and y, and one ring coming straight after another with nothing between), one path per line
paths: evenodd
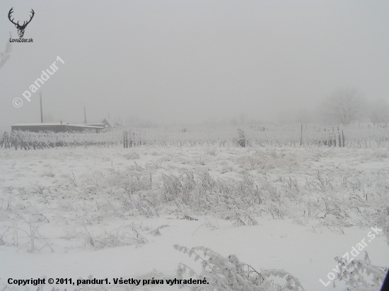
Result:
M178 244L234 254L258 273L284 270L304 290L344 290L329 279L336 256L360 249L355 260L366 251L371 265L389 266L388 178L387 148L1 148L0 289L25 290L8 278L93 275L107 289L178 290L113 283L166 282L179 263L201 275L202 259ZM99 288L43 289L52 287Z

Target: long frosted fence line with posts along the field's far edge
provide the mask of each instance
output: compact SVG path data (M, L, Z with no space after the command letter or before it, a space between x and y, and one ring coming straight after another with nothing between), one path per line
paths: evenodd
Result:
M389 129L349 126L202 126L122 129L100 133L13 131L1 137L0 148L35 150L59 146L277 146L371 148L389 145Z

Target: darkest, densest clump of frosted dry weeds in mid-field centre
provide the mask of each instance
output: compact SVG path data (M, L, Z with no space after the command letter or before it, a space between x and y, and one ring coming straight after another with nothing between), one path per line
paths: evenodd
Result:
M262 198L246 178L237 182L213 179L208 172L195 175L185 171L178 177L163 174L163 202L174 203L182 210L189 208L197 215L216 214L236 225L256 225L253 215L261 212Z

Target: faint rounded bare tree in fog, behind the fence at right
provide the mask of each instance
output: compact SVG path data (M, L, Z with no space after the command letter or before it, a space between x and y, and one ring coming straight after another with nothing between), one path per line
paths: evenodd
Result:
M366 114L366 98L357 88L338 88L325 99L325 115L338 124L361 121Z

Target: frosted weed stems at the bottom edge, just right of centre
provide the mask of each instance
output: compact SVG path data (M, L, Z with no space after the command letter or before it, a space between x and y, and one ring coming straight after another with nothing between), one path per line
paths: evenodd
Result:
M207 247L182 247L175 245L174 249L199 261L202 272L197 275L194 268L184 263L178 264L177 278L185 275L190 278L207 280L207 285L182 285L190 290L233 290L233 291L262 291L262 290L304 290L297 278L283 270L257 271L247 263L239 261L235 255L227 257L212 251Z

